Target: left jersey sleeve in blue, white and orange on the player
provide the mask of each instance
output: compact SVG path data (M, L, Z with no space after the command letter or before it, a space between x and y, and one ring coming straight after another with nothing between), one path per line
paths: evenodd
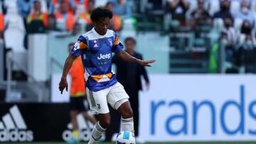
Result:
M72 55L80 56L82 54L82 49L85 48L87 48L87 40L84 36L80 35L70 53Z

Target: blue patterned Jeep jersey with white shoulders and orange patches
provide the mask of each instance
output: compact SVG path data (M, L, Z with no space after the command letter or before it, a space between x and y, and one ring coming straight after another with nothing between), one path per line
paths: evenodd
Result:
M82 57L88 89L94 92L100 91L117 83L115 74L112 72L112 52L119 52L122 49L122 43L112 30L107 30L105 35L100 35L92 28L91 31L80 35L71 54Z

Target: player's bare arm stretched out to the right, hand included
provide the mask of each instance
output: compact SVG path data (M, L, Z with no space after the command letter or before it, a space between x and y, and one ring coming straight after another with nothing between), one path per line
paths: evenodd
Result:
M117 56L122 58L122 60L127 62L137 62L142 66L151 67L151 63L156 62L156 60L139 60L136 57L132 57L132 55L129 55L124 50L117 52Z

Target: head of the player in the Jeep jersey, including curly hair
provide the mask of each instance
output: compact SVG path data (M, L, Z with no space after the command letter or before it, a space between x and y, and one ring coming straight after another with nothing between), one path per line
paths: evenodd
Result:
M92 23L95 25L95 30L100 35L105 35L107 33L107 28L112 17L112 11L102 8L93 9L90 16Z

